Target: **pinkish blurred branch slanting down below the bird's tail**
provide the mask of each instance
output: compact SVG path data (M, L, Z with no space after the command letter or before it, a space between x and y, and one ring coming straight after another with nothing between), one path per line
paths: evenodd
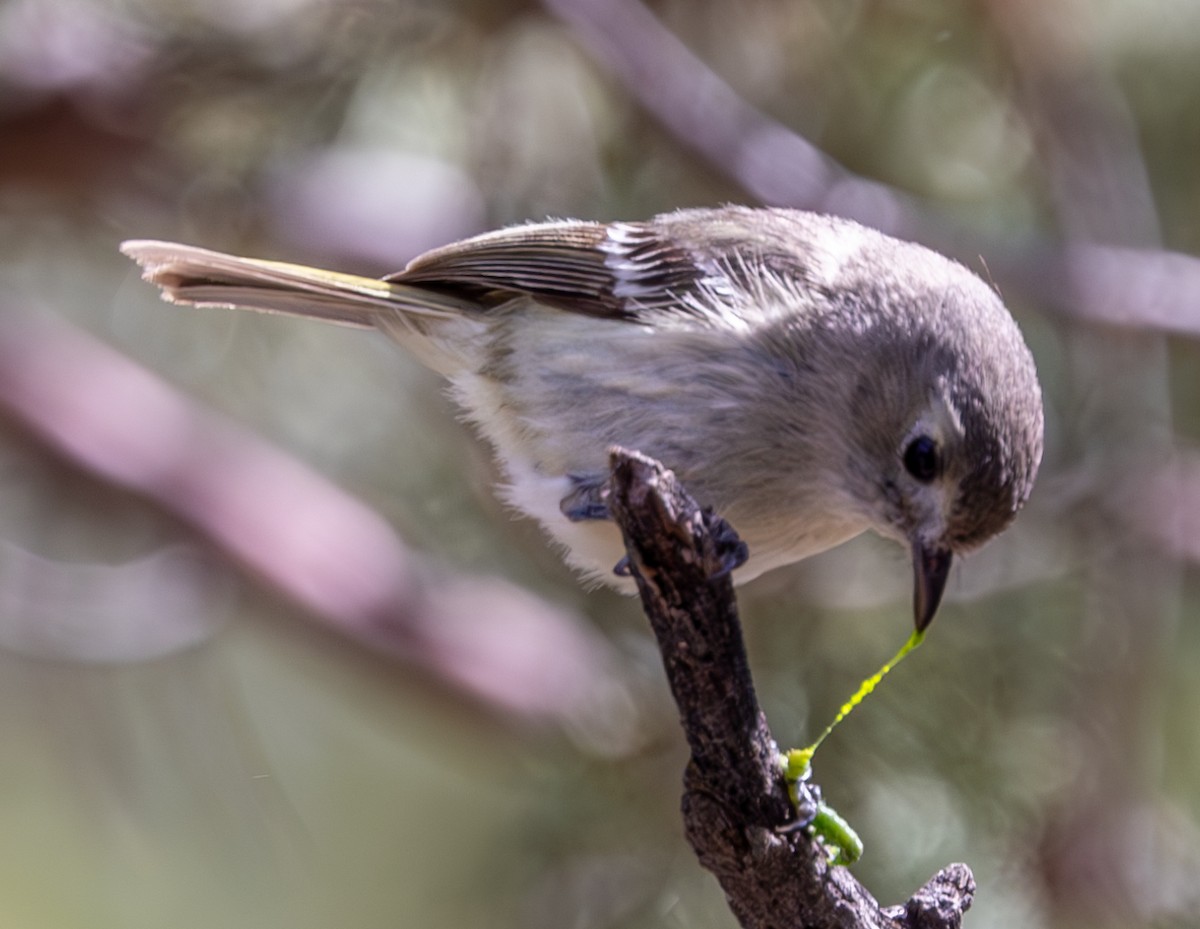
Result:
M323 625L457 693L576 729L620 693L610 646L578 617L420 561L324 477L80 331L0 307L0 406L78 467L188 522Z

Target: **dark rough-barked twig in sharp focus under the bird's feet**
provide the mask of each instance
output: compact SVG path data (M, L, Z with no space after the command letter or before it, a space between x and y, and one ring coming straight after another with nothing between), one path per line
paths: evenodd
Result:
M612 462L610 507L691 749L688 840L742 925L959 927L974 894L966 865L944 868L906 905L881 910L803 831L778 831L796 813L755 696L733 585L720 569L728 527L658 462L620 449Z

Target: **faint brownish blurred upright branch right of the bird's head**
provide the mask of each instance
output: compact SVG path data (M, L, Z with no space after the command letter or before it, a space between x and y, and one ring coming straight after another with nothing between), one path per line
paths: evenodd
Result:
M1154 775L1128 763L1128 756L1130 745L1140 744L1145 754L1158 750L1145 748L1141 699L1158 685L1163 636L1174 624L1180 589L1178 565L1162 552L1183 551L1171 545L1182 526L1163 513L1163 489L1188 480L1170 466L1145 468L1139 461L1130 469L1126 449L1136 446L1139 458L1171 456L1169 361L1165 340L1154 330L1196 334L1194 295L1186 307L1169 299L1188 293L1181 282L1195 262L1139 251L1159 241L1154 197L1122 90L1080 30L1086 5L990 0L984 10L1014 62L1014 97L1034 130L1058 227L1075 241L1127 246L1069 251L1074 264L1058 278L1057 302L1147 330L1120 341L1078 331L1064 350L1069 389L1088 402L1063 424L1063 440L1091 450L1093 492L1102 501L1073 521L1075 547L1088 555L1084 582L1092 601L1090 633L1073 649L1082 670L1070 712L1073 731L1090 743L1093 775L1050 805L1040 873L1046 903L1058 915L1051 922L1068 913L1085 923L1133 924L1148 913L1162 919L1165 913L1154 912L1164 899L1160 879L1140 873L1145 853L1128 840L1129 823L1153 793ZM1142 505L1121 507L1129 496ZM1172 497L1176 510L1182 499ZM1157 526L1147 525L1147 511L1159 517ZM1130 527L1152 533L1160 547L1134 541ZM1110 660L1116 641L1122 642L1118 663Z

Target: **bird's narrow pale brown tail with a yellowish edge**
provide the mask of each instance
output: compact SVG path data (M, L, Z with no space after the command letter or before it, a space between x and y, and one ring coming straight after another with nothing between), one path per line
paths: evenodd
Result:
M397 314L416 317L410 323L420 329L420 318L458 317L473 307L412 284L239 258L191 245L130 240L121 244L121 251L142 265L142 276L161 287L173 304L235 306L383 329L394 328Z

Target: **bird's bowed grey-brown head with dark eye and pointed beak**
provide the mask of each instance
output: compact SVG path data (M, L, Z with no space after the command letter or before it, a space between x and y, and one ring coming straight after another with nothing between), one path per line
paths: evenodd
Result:
M955 556L1004 529L1042 460L1033 358L998 296L940 256L876 290L872 364L851 397L854 493L913 561L917 629L934 618ZM904 266L893 265L893 266ZM912 312L912 307L919 312Z

